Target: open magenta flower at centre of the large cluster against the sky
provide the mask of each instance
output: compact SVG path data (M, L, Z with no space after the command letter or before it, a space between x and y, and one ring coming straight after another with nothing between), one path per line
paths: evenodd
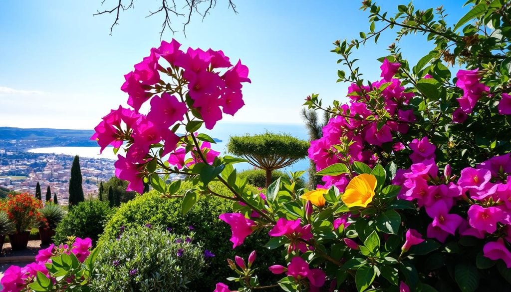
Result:
M155 96L151 99L151 110L147 114L147 119L160 125L160 128L168 128L175 122L182 121L187 111L186 104L173 95L163 93L161 97Z

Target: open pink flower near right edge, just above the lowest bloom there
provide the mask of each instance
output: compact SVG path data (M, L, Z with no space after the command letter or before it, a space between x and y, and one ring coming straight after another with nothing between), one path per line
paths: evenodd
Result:
M499 208L483 208L479 205L470 206L467 215L469 217L470 226L490 234L497 230L497 222L502 221L506 217Z

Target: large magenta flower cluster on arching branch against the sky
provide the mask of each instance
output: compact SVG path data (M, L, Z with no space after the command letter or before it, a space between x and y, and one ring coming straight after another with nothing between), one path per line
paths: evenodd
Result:
M149 56L134 65L121 86L129 95L130 108L111 110L91 137L98 140L101 151L108 145L119 148L125 144L126 155L118 155L115 175L129 182L128 190L143 191L144 167L152 159L148 153L154 147L162 148L160 156L172 153L172 165L184 166L185 151L178 148L181 137L171 127L183 121L190 110L212 129L223 114L234 115L244 105L242 83L250 79L241 61L233 66L222 51L188 48L183 52L180 46L176 40L162 41L159 48L152 48ZM220 69L225 70L220 73ZM161 80L162 75L172 80ZM143 114L141 110L146 107L148 112ZM201 151L211 163L218 152L210 147L203 143Z

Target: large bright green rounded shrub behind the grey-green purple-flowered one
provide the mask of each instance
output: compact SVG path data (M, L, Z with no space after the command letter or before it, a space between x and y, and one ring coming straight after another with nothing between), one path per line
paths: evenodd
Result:
M211 189L219 194L231 196L231 193L223 184L212 182ZM177 194L184 194L192 188L190 182L182 182ZM249 186L252 192L259 193L258 189ZM230 276L230 268L227 266L227 258L234 259L235 255L248 257L248 254L256 250L258 263L261 266L270 266L275 262L282 262L282 251L269 251L263 248L269 240L266 233L252 234L246 238L245 243L233 250L229 238L230 227L218 219L222 213L233 212L233 203L227 199L214 196L201 196L197 204L185 215L181 213L181 198L165 198L152 190L147 194L123 204L112 216L105 226L105 233L101 236L100 243L116 238L120 234L121 226L126 229L150 223L172 228L176 234L188 234L195 232L194 240L203 243L204 249L211 251L216 256L211 258L210 265L206 268L200 283L191 286L198 291L212 291L215 284L224 281ZM278 278L269 271L259 272L263 281L277 281Z

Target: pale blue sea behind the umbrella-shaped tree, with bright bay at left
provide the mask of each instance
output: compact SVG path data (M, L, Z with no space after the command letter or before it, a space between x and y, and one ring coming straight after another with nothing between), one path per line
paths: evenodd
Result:
M266 131L273 133L286 133L293 137L303 140L309 140L309 136L304 124L264 124L264 123L217 123L213 130L204 129L200 132L206 133L212 138L222 140L212 144L212 149L219 151L223 155L229 155L227 153L227 143L231 136L238 136L243 134L259 134ZM86 158L104 158L104 159L117 159L117 155L113 153L113 147L107 147L100 154L100 147L45 147L45 148L34 148L28 150L32 153L45 153L45 154L66 154L66 155L79 155L80 157ZM118 154L121 154L120 150ZM232 155L232 154L230 154ZM303 159L297 161L289 167L282 169L285 172L307 170L309 167L309 160ZM235 164L235 168L238 171L252 169L253 166L248 163ZM307 178L307 173L304 179Z

